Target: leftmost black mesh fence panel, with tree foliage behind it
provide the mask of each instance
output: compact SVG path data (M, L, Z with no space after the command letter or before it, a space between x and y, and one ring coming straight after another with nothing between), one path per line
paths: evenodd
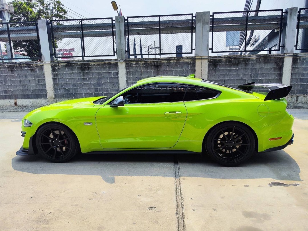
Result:
M0 23L0 60L16 59L41 59L36 21Z

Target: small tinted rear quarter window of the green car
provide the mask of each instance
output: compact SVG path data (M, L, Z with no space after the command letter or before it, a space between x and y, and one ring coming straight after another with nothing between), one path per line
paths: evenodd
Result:
M186 94L184 96L183 101L211 99L217 96L218 94L219 94L219 91L216 91L213 89L189 85L187 87Z

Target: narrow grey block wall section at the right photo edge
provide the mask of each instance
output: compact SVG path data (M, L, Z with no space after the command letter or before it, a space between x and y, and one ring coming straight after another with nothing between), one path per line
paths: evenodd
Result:
M291 95L308 95L308 57L293 57L291 85Z

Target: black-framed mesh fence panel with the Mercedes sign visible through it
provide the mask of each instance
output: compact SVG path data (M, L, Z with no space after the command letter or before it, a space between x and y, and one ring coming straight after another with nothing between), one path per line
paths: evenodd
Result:
M194 17L193 14L127 17L128 57L192 54Z

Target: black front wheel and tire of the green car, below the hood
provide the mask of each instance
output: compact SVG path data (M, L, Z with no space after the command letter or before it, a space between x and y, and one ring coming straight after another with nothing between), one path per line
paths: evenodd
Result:
M55 163L71 160L80 152L79 142L74 132L57 123L45 124L39 128L35 143L39 154Z

